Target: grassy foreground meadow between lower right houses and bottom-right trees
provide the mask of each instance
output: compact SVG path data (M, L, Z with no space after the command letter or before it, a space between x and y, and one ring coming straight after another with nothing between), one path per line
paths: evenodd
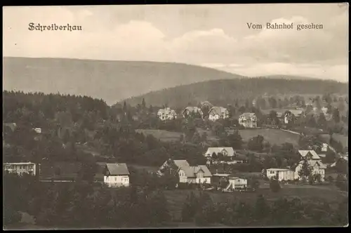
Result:
M281 197L293 198L298 197L303 201L317 201L319 199L324 199L330 204L337 203L341 201L343 197L347 197L346 192L340 192L334 187L328 187L325 185L281 185L282 189L278 193L273 193L268 187L262 187L256 192L208 192L213 201L216 202L227 202L227 201L245 201L249 204L255 204L256 199L259 194L263 196L268 201L274 201ZM199 194L198 190L191 189L178 189L178 190L166 190L164 193L168 201L168 208L173 216L173 220L180 220L183 203L185 202L187 195L193 192L194 194Z

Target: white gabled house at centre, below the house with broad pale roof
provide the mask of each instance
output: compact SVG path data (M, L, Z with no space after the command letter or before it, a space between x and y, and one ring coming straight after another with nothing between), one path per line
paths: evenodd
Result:
M212 174L207 166L182 166L178 171L180 183L211 184Z

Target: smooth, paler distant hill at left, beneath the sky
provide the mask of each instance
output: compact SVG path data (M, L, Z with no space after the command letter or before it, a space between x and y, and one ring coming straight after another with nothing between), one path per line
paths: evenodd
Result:
M216 69L166 62L4 58L4 89L124 98L163 88L215 79L237 79Z

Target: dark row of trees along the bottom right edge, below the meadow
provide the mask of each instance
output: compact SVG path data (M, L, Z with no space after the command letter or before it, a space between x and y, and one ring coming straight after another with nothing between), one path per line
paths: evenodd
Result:
M206 192L191 193L183 204L184 222L205 227L220 223L231 227L345 226L348 223L347 197L335 208L326 201L279 198L267 201L259 195L256 203L215 202Z

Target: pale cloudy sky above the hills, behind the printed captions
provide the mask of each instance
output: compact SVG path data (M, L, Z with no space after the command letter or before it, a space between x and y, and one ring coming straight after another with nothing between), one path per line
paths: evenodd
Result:
M347 4L21 6L3 8L3 54L29 58L149 60L245 76L348 81ZM30 31L79 25L81 31ZM249 29L248 23L262 29ZM323 29L267 29L266 23Z

